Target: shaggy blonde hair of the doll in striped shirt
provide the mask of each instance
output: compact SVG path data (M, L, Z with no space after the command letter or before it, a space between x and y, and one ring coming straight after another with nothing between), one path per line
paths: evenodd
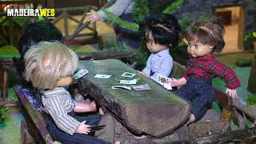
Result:
M78 56L60 42L39 42L26 51L24 78L39 90L56 87L59 78L74 74Z

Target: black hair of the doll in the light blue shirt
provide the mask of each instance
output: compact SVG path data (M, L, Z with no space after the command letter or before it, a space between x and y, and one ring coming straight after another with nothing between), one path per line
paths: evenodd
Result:
M181 26L172 14L154 14L147 16L142 23L142 32L149 39L151 32L154 42L175 47L180 42Z

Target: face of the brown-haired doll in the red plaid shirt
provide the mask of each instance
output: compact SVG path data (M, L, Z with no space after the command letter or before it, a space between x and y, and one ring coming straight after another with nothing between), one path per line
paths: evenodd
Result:
M204 45L201 42L190 41L187 45L187 52L194 58L210 54L214 46Z

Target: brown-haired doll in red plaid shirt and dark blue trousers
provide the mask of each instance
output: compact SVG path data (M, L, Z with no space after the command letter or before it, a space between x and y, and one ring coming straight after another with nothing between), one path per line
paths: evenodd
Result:
M192 22L182 32L188 42L190 59L184 77L170 80L171 86L181 86L175 93L192 103L192 114L187 124L198 121L214 101L214 87L211 76L216 75L226 83L226 94L237 97L239 79L229 67L214 58L214 52L222 51L224 26L220 19L204 17Z

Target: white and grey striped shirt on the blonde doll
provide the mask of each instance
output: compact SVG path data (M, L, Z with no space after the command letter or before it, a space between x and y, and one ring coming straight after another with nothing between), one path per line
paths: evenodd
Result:
M43 92L42 105L46 113L50 114L59 129L67 134L73 135L78 129L80 122L72 118L67 113L71 112L76 106L76 102L63 87Z

